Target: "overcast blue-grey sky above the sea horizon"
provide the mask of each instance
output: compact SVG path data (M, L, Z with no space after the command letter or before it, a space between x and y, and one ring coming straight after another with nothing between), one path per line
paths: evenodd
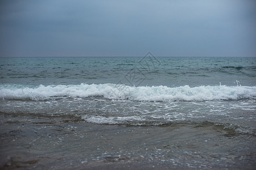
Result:
M0 1L0 57L255 57L255 30L255 0Z

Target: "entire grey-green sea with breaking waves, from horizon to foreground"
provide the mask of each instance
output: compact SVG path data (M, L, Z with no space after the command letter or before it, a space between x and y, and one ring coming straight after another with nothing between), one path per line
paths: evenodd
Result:
M255 169L256 57L1 57L0 169Z

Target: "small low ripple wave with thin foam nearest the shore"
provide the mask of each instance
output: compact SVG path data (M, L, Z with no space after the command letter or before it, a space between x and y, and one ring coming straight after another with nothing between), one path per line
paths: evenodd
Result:
M214 122L188 122L180 120L158 120L158 118L149 119L144 116L126 116L126 117L104 117L104 116L88 116L84 115L81 117L86 122L92 124L106 124L106 125L129 125L129 126L170 126L174 124L186 124L193 125L193 128L213 130L222 132L226 137L233 137L235 135L247 134L256 135L256 130L250 127L243 127L240 125L233 124L222 124Z

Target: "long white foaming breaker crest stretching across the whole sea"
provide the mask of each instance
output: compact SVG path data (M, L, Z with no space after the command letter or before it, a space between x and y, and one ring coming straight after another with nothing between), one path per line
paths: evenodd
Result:
M122 84L79 84L27 86L1 84L2 99L42 100L51 97L104 96L108 99L129 99L146 101L209 101L238 100L256 97L256 86L199 86L199 87L130 87Z

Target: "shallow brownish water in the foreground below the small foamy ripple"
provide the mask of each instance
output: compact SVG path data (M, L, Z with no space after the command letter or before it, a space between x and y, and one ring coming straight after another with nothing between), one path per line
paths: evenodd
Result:
M208 121L98 125L71 116L1 113L1 141L1 165L6 168L141 164L144 168L254 169L256 159L255 135Z

